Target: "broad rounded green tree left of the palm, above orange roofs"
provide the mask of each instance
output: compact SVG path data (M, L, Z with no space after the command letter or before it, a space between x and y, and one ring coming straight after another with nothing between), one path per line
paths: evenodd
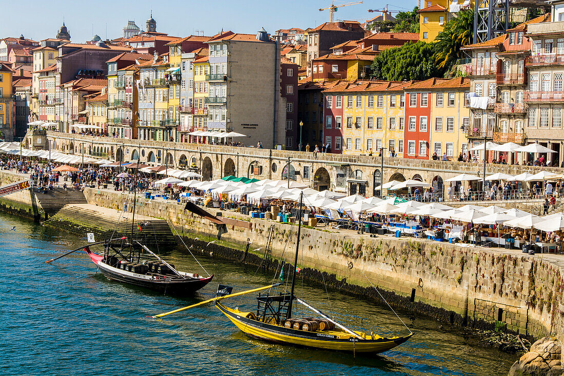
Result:
M426 80L440 77L443 70L434 62L434 43L418 41L382 51L371 65L377 80Z

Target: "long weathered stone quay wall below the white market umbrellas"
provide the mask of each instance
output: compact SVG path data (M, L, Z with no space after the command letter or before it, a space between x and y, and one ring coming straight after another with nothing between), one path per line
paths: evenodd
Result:
M131 206L128 195L87 189L89 203L105 207ZM293 262L297 226L232 212L223 216L249 221L249 228L227 225L223 233L183 206L138 199L136 212L168 220L183 237L202 235L238 244L249 238L265 250L274 226L272 257ZM219 212L210 210L211 213ZM173 231L174 232L174 231ZM204 243L205 246L205 243ZM465 248L457 244L412 238L356 235L324 228L302 227L298 265L333 279L332 286L353 294L374 294L373 283L391 304L439 320L492 328L504 326L532 338L564 335L564 256L561 262L503 248ZM548 257L548 256L547 256ZM386 295L387 294L387 295Z

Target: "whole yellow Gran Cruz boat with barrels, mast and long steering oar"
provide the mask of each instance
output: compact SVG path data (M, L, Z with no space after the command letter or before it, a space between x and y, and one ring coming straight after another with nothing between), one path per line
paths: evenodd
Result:
M175 311L158 314L155 317L166 316L170 313L183 311L184 309L211 302L214 303L215 307L227 316L227 318L229 318L235 326L243 331L243 333L253 338L293 346L352 353L384 352L406 342L409 338L411 338L413 333L409 330L409 328L408 335L392 337L384 337L374 333L364 333L363 331L351 330L294 295L297 272L296 265L299 250L299 234L301 230L302 198L300 199L299 207L298 218L300 219L298 222L298 241L296 244L296 256L294 260L292 287L290 288L290 292L284 291L275 295L270 295L270 292L267 292L266 295L258 294L257 312L244 312L237 308L229 308L220 303L220 301L233 296L249 294L251 292L270 290L273 287L281 285L281 283L259 287L253 290L237 292L236 294L231 294L232 287L219 285L215 298L180 308ZM290 297L293 297L293 299L290 299ZM294 301L304 305L306 308L309 308L320 317L294 318L292 316L292 305Z

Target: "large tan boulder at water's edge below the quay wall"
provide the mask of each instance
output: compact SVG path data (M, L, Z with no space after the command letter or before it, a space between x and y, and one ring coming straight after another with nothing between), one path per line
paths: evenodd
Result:
M562 376L561 353L557 340L541 338L511 366L508 376Z

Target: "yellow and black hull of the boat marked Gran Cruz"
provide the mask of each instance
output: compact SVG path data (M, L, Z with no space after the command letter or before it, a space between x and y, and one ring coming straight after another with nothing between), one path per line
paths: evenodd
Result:
M382 338L378 336L376 339L359 339L350 334L337 331L303 331L288 329L279 325L272 325L270 323L247 318L245 316L248 312L233 310L218 301L215 302L215 306L243 331L243 333L254 338L294 346L346 352L380 353L406 342L413 335L409 334L408 336L393 338Z

